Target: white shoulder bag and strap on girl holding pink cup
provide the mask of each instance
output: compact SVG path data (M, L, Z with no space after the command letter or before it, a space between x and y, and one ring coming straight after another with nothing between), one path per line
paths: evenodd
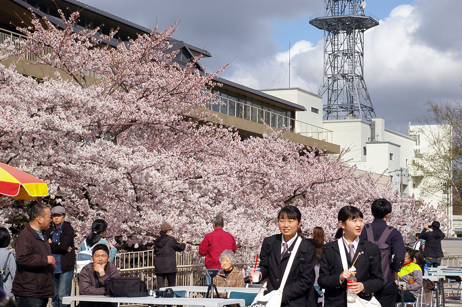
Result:
M281 307L282 302L282 291L284 290L285 283L287 281L287 277L289 277L289 271L292 267L293 259L295 259L295 255L299 249L300 243L302 242L302 238L299 236L297 241L295 242L295 246L293 246L292 252L289 257L289 262L287 262L287 267L285 268L284 275L281 280L281 286L278 290L273 290L266 295L263 293L266 290L267 282L263 284L263 287L258 292L257 296L255 297L254 301L251 303L251 307Z

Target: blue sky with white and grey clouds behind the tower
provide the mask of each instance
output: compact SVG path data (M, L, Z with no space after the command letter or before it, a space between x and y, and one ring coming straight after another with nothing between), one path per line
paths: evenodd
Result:
M82 0L146 28L179 22L174 38L212 54L201 64L252 87L290 86L317 94L323 77L323 31L309 24L323 0ZM424 122L428 101L462 101L462 1L369 0L380 25L365 32L364 77L377 117L407 134Z

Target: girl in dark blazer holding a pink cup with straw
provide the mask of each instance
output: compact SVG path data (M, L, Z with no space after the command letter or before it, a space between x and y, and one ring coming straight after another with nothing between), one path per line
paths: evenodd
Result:
M301 234L301 220L302 213L297 207L285 206L278 213L281 233L263 239L259 268L260 279L267 278L264 294L279 289L291 251ZM316 306L313 291L314 264L316 249L303 239L282 292L281 307ZM251 275L249 277L253 282Z

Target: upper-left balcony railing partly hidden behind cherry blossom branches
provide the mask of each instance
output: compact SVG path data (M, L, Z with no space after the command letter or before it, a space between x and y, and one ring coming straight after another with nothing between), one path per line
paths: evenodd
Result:
M18 33L11 32L11 31L0 28L0 43L4 43L7 39L10 39L14 44L14 49L15 49L14 50L15 51L14 55L15 56L17 56L19 58L29 60L31 62L43 62L41 59L44 56L53 53L53 51L52 51L52 49L50 47L45 47L40 55L38 55L36 53L33 53L33 52L30 52L30 51L27 51L26 49L21 47L22 44L20 43L22 41L27 40L27 37L25 35L18 34ZM4 52L4 51L0 50L0 52ZM62 65L59 68L64 70L64 66L62 66ZM92 78L100 79L100 80L105 80L105 78L103 76L99 75L98 73L96 73L94 71L85 71L84 74L85 74L85 76L88 76L88 77L92 77Z

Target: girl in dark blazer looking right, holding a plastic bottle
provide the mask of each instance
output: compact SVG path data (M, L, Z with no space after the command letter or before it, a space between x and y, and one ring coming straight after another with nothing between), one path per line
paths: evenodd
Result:
M350 289L365 300L370 300L371 294L384 285L379 248L359 237L364 226L361 210L345 206L339 211L338 221L341 228L335 235L336 240L323 247L318 277L319 286L325 289L324 305L329 307L347 306L347 279L351 275L356 277L356 282ZM346 253L346 270L340 249ZM355 271L351 268L354 259Z

